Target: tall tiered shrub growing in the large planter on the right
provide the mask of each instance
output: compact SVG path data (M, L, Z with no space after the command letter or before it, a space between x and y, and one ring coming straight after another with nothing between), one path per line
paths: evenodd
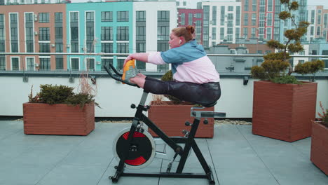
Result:
M251 69L253 78L259 78L261 80L269 80L275 83L296 83L299 82L294 76L291 77L293 72L299 74L315 74L317 71L322 70L324 62L322 60L316 60L312 62L304 62L296 65L293 70L292 65L288 62L291 58L288 52L299 53L303 50L301 45L301 37L306 34L308 25L306 21L301 21L296 24L292 11L296 11L299 8L299 4L296 1L280 0L281 4L285 4L288 11L282 11L279 14L280 20L292 20L294 29L287 29L284 33L287 38L287 42L280 43L279 41L271 40L267 42L267 46L275 48L278 53L268 53L264 56L264 62L261 66L254 66ZM286 71L288 72L286 74Z

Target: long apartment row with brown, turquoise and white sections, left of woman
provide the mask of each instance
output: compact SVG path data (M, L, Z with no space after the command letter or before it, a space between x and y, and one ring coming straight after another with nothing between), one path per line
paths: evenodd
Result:
M177 27L175 1L20 4L0 8L0 53L44 53L0 55L3 70L100 71L109 63L122 69L125 55L119 53L168 50L170 30ZM137 62L137 67L169 69L168 64L148 66L144 62Z

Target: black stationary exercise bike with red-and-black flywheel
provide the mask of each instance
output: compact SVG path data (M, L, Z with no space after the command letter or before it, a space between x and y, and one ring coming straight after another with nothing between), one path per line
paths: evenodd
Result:
M136 84L130 83L128 79L122 79L122 76L124 77L125 75L118 73L113 65L109 64L109 66L115 74L112 74L106 66L104 66L104 69L106 69L111 78L127 85L137 87ZM212 169L210 165L207 164L202 152L198 148L194 137L200 123L200 118L222 118L225 117L226 114L222 112L199 111L199 109L204 109L205 107L192 107L191 116L195 117L195 119L192 124L189 122L185 123L186 125L191 125L191 130L183 130L184 137L168 137L168 135L165 135L165 132L160 130L155 123L143 114L143 111L148 111L150 109L150 106L145 105L147 96L148 93L144 91L139 105L136 106L135 104L131 104L132 109L137 109L132 125L130 128L125 128L119 132L116 139L114 139L114 156L118 159L119 163L115 166L116 173L114 176L110 176L109 179L116 183L120 177L204 178L208 179L209 184L215 184ZM217 102L214 104L216 103ZM214 104L211 104L208 107L212 107ZM206 119L204 123L208 123ZM160 139L153 139L149 132L144 129L144 124L147 125L149 129L153 130ZM156 146L158 145L164 145L161 147L160 151L156 151ZM196 154L200 165L202 165L203 170L205 171L204 174L182 172L186 159L191 152L191 148ZM125 167L135 170L146 167L151 163L153 158L170 160L166 172L124 172ZM170 172L172 163L175 161L179 161L177 170L175 172Z

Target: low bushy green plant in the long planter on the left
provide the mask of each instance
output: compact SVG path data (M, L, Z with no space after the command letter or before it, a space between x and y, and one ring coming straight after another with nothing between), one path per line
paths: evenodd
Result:
M29 94L29 103L45 103L45 104L69 104L72 106L79 105L82 109L85 104L95 102L94 95L87 93L73 93L74 88L66 85L40 85L40 92L36 93L33 97L32 93ZM95 102L97 107L99 104Z

